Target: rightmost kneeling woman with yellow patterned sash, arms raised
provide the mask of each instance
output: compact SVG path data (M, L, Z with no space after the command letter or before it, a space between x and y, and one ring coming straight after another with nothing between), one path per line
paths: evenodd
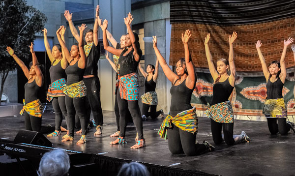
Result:
M288 38L287 41L284 40L284 49L280 61L272 61L267 69L265 58L260 50L262 43L260 40L256 42L256 49L266 78L267 97L263 114L266 116L268 129L272 135L278 132L280 134L287 134L290 128L295 132L295 124L291 121L286 122L287 108L282 95L287 76L285 56L290 43L293 43L293 38Z

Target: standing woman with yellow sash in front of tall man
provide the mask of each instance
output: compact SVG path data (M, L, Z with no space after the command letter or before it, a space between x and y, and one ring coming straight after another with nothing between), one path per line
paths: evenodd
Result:
M67 59L69 65L65 69L65 73L67 75L66 85L63 86L62 90L65 96L65 106L67 110L68 117L68 136L64 136L63 141L73 141L74 140L74 126L75 126L75 114L78 115L81 128L82 128L82 136L81 139L77 142L77 144L86 143L86 134L87 134L87 117L86 117L86 86L83 79L84 69L87 64L87 57L83 48L83 31L86 27L85 24L82 24L81 27L78 27L80 30L80 40L79 44L72 45L71 53L69 53L68 49L64 41L61 39L59 35L59 31L62 27L57 31L57 36L59 40L59 44L63 49L64 56Z

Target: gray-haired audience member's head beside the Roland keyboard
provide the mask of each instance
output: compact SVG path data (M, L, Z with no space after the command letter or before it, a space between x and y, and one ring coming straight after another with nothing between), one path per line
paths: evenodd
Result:
M39 164L40 176L66 176L70 169L70 157L56 149L43 155Z

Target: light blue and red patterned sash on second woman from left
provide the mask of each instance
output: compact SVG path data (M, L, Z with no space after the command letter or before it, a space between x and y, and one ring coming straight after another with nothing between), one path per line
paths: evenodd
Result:
M50 102L53 99L53 97L64 96L64 93L62 92L62 86L65 85L65 83L66 81L64 78L61 78L51 83L47 90L46 99Z

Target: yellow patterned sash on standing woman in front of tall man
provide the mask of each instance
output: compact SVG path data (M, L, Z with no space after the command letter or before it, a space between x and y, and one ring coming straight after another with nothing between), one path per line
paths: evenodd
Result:
M86 96L86 86L83 81L74 83L70 86L64 85L62 91L71 98Z

